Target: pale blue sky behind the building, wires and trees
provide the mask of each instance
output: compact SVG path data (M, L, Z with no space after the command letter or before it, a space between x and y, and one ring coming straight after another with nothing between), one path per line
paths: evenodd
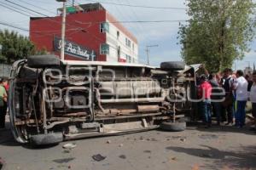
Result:
M61 3L55 2L55 0L10 0L27 8L33 8L40 13L53 16L56 13L56 8L61 8ZM2 4L7 4L2 0ZM36 2L36 3L35 3ZM92 0L76 0L76 3L93 3ZM187 20L188 16L183 9L155 9L155 8L136 8L136 7L123 7L116 6L108 3L125 3L136 5L147 5L156 7L177 7L186 8L184 0L101 0L103 6L113 14L118 20ZM255 0L256 2L256 0ZM26 3L32 3L40 8L29 6ZM24 16L7 8L0 6L0 21L11 23L15 26L20 26L28 29L29 17ZM40 16L39 14L30 14L31 16ZM180 45L177 40L177 31L179 27L178 22L171 23L129 23L125 24L138 39L139 42L139 61L146 63L147 55L145 48L147 45L155 45L158 47L149 48L149 58L151 65L160 65L162 61L168 60L181 60ZM0 28L8 28L0 26ZM10 29L10 28L9 28ZM19 30L16 30L19 31ZM26 31L19 31L20 34L28 35ZM253 65L256 61L256 39L251 43L252 51L246 54L246 57L241 61L236 61L238 69L243 69L248 65L248 62Z

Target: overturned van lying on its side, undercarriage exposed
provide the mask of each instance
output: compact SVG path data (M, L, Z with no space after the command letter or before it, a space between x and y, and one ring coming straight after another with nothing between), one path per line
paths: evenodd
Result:
M9 112L20 143L63 140L154 128L183 131L195 75L183 62L160 68L31 56L12 66Z

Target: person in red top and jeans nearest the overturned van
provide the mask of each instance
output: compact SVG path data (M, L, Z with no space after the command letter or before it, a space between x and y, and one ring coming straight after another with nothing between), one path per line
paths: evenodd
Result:
M201 85L198 89L198 95L201 99L201 114L204 116L204 122L207 127L212 125L212 113L211 113L211 95L212 85L207 82L206 76L201 76Z

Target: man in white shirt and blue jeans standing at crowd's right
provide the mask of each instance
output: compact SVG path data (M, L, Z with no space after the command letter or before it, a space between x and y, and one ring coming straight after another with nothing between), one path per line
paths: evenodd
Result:
M236 127L243 127L245 125L246 116L246 105L248 99L247 86L248 82L243 77L243 71L236 71L236 80L234 81L233 88L236 90L236 101L237 101L237 111L236 111Z

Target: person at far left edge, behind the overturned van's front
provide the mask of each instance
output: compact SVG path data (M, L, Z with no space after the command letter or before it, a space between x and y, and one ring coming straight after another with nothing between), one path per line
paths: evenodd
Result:
M3 79L0 78L0 128L5 127L6 110L7 110L7 93L4 88Z

